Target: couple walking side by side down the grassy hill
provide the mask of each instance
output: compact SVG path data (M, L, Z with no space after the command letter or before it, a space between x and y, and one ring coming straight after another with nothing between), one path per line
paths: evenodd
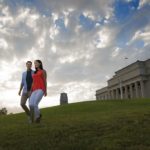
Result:
M27 71L22 74L22 81L18 94L21 95L20 105L26 112L30 123L40 123L42 115L38 108L38 104L42 97L47 95L47 74L43 69L41 60L35 60L34 65L35 71L32 70L32 62L26 62ZM26 106L28 98L29 108Z

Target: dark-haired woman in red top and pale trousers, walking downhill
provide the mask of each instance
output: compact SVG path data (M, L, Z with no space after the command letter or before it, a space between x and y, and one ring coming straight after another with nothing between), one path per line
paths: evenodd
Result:
M39 123L41 120L41 113L38 104L42 97L47 95L47 75L43 69L41 60L35 60L35 72L32 75L33 83L31 89L31 96L29 100L31 122Z

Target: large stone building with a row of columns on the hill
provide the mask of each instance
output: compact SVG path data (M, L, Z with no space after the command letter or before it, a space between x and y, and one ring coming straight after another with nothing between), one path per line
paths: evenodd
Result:
M150 98L150 59L118 70L107 84L96 91L97 100Z

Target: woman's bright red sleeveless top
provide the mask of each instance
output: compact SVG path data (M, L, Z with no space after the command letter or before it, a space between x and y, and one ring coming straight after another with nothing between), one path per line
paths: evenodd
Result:
M45 87L44 71L43 70L38 70L37 73L32 75L32 78L33 78L32 91L42 89L45 93L46 92L46 87Z

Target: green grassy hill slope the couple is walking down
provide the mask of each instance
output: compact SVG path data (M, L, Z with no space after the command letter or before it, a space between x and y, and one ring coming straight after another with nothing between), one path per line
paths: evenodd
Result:
M150 99L91 101L0 117L0 150L150 150Z

